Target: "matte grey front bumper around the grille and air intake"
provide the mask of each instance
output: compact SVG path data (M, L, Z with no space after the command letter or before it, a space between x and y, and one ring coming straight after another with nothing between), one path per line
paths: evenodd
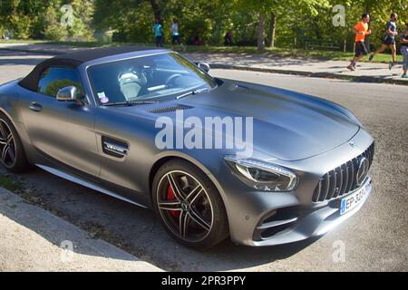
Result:
M353 216L372 191L369 176L362 185L367 186L368 194L358 207L345 215L340 216L340 201L358 189L339 198L312 201L316 184L326 172L355 159L374 140L366 131L360 130L349 141L353 141L354 146L346 142L306 160L280 162L278 165L296 170L299 176L300 183L293 192L248 190L237 182L236 177L224 175L220 192L227 209L231 240L254 247L287 244L323 235Z

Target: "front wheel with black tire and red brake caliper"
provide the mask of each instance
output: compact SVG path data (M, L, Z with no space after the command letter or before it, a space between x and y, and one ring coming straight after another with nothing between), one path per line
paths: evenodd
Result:
M185 199L177 196L170 200L166 198L171 192L174 196L170 180L175 180L174 182L180 185L180 195ZM170 160L161 166L153 179L151 196L153 208L161 224L180 244L206 250L228 237L228 218L219 191L207 175L191 163L185 160ZM184 208L182 204L167 206L167 203L170 205L174 200L173 203L176 204L181 199ZM175 210L168 207L174 207ZM177 227L182 223L183 229ZM182 233L185 237L182 237Z

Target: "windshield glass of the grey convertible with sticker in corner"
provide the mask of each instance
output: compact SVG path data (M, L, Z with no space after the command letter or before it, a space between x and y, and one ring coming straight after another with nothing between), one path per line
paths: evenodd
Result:
M93 94L102 105L161 101L217 86L209 74L178 53L95 64L87 73Z

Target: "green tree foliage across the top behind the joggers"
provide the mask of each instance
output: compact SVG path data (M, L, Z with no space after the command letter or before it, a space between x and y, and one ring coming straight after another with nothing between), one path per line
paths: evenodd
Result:
M165 39L170 23L180 21L184 43L221 44L231 30L233 43L303 47L310 41L353 47L353 26L368 11L378 43L392 12L400 15L400 30L408 21L407 0L0 0L0 33L15 38L89 39L94 32L113 31L120 42L152 43L151 26L160 18ZM62 27L60 10L73 5L72 27ZM332 24L334 5L345 6L345 27Z

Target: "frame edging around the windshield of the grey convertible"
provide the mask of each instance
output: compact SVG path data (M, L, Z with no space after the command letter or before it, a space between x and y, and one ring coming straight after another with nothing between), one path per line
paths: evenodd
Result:
M95 84L94 84L94 80L92 79L92 69L95 69L96 67L102 67L104 65L112 65L112 63L126 63L128 62L129 64L131 64L131 61L134 60L142 60L143 58L156 58L156 57L160 57L163 55L169 55L170 58L173 59L179 59L181 61L180 66L184 66L184 69L186 71L189 71L189 73L195 73L196 76L198 78L201 79L201 83L199 85L194 85L188 88L183 88L182 90L180 90L179 92L170 92L167 94L162 94L162 95L157 95L157 96L142 96L142 97L138 97L138 98L134 98L132 100L127 100L125 96L123 96L123 100L121 101L117 101L117 102L165 102L165 101L170 101L170 100L177 100L179 99L180 95L196 95L199 92L209 92L212 90L215 90L218 88L219 86L219 82L217 82L217 79L212 77L211 75L209 75L209 73L204 72L203 70L201 70L196 63L192 63L191 61L189 61L188 59L186 59L185 57L183 57L182 55L180 55L180 53L176 53L176 52L164 52L164 53L153 53L153 54L144 54L144 55L135 55L132 57L126 57L126 58L119 58L117 60L111 60L111 61L107 61L107 62L102 62L102 63L92 63L92 65L86 66L85 68L85 75L88 79L88 83L89 83L89 88L92 92L93 95L93 100L95 102L95 104L97 106L112 106L117 102L105 102L103 103L101 101L101 98L98 97L98 91L97 88L95 88ZM174 56L173 56L174 55ZM187 65L186 65L187 64ZM105 68L106 69L106 68ZM201 76L204 76L204 78L206 78L206 80L204 80ZM112 81L114 82L114 81ZM207 90L203 90L203 89L207 89Z

